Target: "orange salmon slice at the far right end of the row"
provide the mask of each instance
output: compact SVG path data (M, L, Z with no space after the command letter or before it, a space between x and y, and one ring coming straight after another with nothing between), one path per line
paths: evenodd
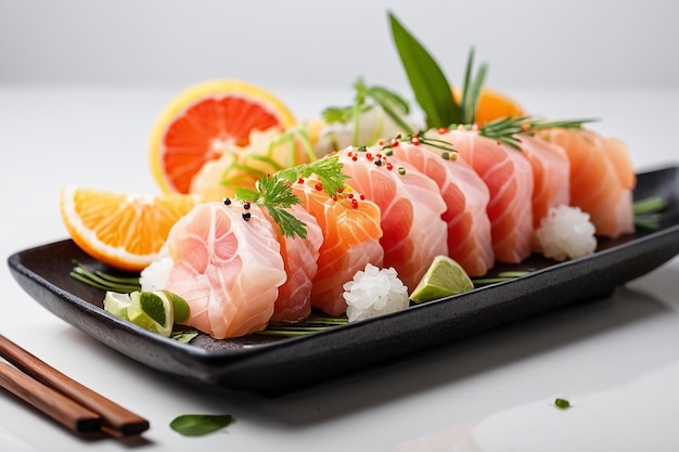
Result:
M637 179L627 145L588 129L549 129L538 137L566 152L571 160L571 204L590 215L597 235L615 238L632 233L632 189Z

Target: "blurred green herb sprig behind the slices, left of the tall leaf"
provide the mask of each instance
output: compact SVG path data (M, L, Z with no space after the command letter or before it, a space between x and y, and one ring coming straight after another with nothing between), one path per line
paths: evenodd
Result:
M361 114L379 106L403 132L412 132L411 126L406 117L410 113L410 104L396 92L379 86L367 86L359 78L354 83L356 94L354 103L348 106L330 106L325 108L321 116L328 124L349 124L354 122L354 145L372 144L380 137L375 135L370 143L359 143L360 117ZM380 130L375 133L379 134Z

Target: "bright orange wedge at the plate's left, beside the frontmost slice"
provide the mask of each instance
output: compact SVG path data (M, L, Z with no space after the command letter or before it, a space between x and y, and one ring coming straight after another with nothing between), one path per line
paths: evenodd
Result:
M66 185L62 220L73 241L111 267L140 271L158 257L175 222L196 204L190 195L141 195Z

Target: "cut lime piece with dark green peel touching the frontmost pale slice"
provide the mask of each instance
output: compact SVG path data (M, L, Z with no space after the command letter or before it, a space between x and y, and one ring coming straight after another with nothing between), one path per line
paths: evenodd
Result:
M174 307L165 292L133 292L130 298L132 302L127 309L130 322L169 337L172 333Z

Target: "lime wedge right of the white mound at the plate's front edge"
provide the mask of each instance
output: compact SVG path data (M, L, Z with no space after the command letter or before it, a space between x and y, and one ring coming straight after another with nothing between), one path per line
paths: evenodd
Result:
M436 256L410 299L414 302L432 301L474 288L474 283L458 262L448 256Z

